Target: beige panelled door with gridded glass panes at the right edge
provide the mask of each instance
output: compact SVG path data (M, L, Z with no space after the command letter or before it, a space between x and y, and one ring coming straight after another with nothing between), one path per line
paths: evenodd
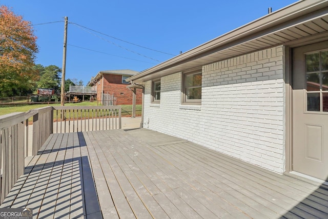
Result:
M328 42L293 49L293 170L328 177Z

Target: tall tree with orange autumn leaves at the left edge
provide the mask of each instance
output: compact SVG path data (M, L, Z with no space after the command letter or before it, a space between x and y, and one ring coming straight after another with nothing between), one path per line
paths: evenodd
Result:
M31 23L0 6L0 96L29 90L38 79L34 60L38 47Z

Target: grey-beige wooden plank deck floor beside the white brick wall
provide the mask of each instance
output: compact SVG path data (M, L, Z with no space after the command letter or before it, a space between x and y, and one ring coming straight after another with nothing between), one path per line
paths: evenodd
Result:
M327 218L328 189L150 131L52 134L0 207L33 218Z

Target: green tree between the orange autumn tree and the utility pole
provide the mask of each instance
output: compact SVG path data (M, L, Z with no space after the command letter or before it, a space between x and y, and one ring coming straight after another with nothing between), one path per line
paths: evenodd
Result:
M40 72L40 81L37 82L37 88L52 88L59 91L61 68L50 65Z

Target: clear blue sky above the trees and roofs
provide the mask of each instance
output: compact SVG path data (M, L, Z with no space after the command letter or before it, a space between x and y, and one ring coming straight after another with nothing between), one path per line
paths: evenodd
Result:
M0 5L34 25L36 64L43 66L62 67L68 16L66 79L81 79L86 85L101 70L148 69L266 15L269 7L276 11L294 2L0 0Z

